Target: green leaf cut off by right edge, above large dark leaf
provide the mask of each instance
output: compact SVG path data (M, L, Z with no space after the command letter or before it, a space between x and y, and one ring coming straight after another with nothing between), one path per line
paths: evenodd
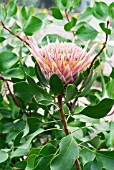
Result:
M114 79L110 79L106 86L107 94L110 98L114 99Z

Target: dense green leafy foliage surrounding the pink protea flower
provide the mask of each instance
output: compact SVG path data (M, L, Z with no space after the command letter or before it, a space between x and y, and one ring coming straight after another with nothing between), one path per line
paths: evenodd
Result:
M43 13L15 0L0 8L0 169L74 170L78 160L79 169L113 170L114 3L96 1L81 13L79 0L55 4ZM88 50L97 42L100 55L74 84L63 87L56 74L48 83L26 43L32 36L39 47L47 36L76 36L83 48L90 40ZM62 91L67 136L57 101Z

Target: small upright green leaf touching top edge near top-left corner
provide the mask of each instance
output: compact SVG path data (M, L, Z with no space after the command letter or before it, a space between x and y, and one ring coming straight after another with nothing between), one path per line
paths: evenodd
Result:
M13 15L15 15L17 13L17 6L15 3L15 0L11 0L8 3L8 10L7 10L8 16L12 17Z

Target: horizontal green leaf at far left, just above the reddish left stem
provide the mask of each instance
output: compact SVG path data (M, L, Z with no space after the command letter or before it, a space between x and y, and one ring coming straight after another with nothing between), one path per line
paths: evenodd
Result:
M3 75L5 78L18 78L18 79L24 78L24 73L20 68L12 68L4 72Z

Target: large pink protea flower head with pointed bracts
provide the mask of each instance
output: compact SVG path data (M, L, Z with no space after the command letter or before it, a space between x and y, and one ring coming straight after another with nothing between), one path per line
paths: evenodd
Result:
M59 42L38 48L36 42L29 42L30 51L41 67L46 79L49 80L53 73L58 74L64 85L73 83L78 74L87 68L96 49L95 44L89 52L86 52L88 43L84 49L72 42Z

